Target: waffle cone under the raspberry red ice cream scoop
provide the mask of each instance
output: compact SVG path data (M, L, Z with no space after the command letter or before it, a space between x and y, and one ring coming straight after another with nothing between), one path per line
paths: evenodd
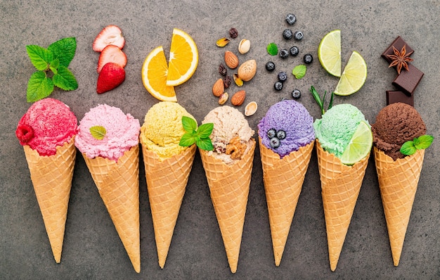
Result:
M63 146L58 146L56 154L49 156L39 155L30 146L23 146L53 257L58 263L63 250L67 207L77 154L74 138Z

